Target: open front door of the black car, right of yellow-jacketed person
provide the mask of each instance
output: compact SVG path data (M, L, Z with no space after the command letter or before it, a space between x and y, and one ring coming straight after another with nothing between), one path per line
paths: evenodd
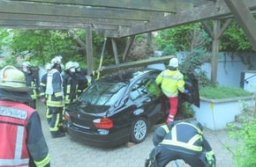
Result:
M193 74L184 74L184 88L189 90L189 94L180 93L180 100L200 107L199 83Z

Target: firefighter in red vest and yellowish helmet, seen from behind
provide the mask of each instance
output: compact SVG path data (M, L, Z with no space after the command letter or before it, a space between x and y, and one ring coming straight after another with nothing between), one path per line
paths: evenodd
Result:
M12 66L0 72L0 166L50 166L49 149L26 76Z

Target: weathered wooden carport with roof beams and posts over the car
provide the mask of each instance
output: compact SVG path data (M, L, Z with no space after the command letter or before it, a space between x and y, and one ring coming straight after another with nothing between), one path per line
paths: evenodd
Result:
M216 83L219 39L233 18L256 50L255 0L2 0L0 27L27 29L86 29L88 73L93 70L92 29L111 38L118 64L117 38L201 22L213 38L212 82ZM220 25L220 19L226 19ZM207 25L214 21L214 27ZM162 60L161 60L162 61ZM157 62L154 60L154 62ZM131 64L130 64L131 66Z

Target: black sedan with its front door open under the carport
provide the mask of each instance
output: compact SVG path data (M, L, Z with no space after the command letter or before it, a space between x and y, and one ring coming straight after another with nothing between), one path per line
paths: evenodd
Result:
M65 108L65 127L74 140L98 147L142 142L150 127L162 123L169 113L169 100L155 84L159 69L125 69L102 76ZM190 95L184 100L200 104L198 82L185 76Z

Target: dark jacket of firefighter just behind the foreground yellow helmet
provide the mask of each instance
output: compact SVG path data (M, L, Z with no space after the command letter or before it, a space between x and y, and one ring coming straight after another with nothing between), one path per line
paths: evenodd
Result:
M26 73L24 72L26 76L26 86L27 87L33 87L34 89L29 92L31 95L31 98L36 99L37 98L37 92L38 92L38 82L36 77L34 76L34 73Z

